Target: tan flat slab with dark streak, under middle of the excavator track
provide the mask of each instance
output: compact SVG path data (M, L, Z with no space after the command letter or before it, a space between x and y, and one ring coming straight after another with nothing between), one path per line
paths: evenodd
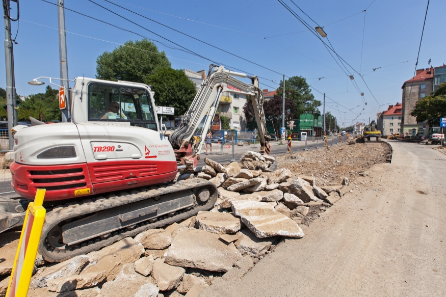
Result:
M107 271L107 280L113 280L119 274L121 267L134 263L144 254L144 246L132 237L115 242L99 251L88 253L90 263L83 273Z

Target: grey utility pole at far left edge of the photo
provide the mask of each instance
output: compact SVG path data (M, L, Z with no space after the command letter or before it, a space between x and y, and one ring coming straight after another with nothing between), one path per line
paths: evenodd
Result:
M14 138L12 136L12 127L17 124L17 101L15 93L14 76L14 50L11 40L11 17L9 11L10 0L3 0L4 18L5 18L5 66L6 66L6 109L8 114L8 140L9 150L13 150ZM17 3L18 5L18 3ZM17 15L18 19L18 15ZM16 20L17 20L16 19ZM14 20L14 19L13 19Z

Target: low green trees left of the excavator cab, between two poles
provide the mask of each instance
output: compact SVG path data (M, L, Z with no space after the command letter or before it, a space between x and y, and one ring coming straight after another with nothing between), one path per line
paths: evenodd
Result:
M44 122L60 121L59 91L46 87L45 93L30 95L20 103L17 111L18 120L29 121L30 117Z

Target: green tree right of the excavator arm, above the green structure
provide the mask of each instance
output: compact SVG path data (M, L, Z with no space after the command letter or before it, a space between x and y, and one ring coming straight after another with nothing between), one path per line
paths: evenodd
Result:
M283 81L280 82L280 87L277 89L277 94L283 92ZM321 101L314 99L311 94L310 86L306 79L302 76L293 76L285 80L285 96L294 101L296 110L294 118L298 119L300 115L309 113L312 115L320 115L318 107L321 106Z

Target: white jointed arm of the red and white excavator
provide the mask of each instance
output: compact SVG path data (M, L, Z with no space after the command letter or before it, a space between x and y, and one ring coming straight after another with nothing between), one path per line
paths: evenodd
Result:
M252 84L245 84L233 76L250 77L244 73L226 70L223 66L209 66L207 77L201 84L189 110L181 118L179 127L169 136L178 165L185 165L186 168L197 165L207 130L214 119L221 93L225 91L251 96L260 136L260 153L268 154L270 152L270 136L266 128L263 110L264 97L258 86L258 78L252 76L250 77ZM191 139L203 118L205 121L199 141L193 143Z

